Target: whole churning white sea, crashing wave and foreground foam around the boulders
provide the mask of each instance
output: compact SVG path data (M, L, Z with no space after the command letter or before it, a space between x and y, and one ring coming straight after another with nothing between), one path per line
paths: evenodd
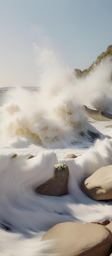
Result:
M85 78L51 64L37 87L0 88L0 256L51 255L53 242L41 239L57 223L112 218L112 200L81 190L112 164L112 61ZM68 194L36 194L58 163L69 168Z

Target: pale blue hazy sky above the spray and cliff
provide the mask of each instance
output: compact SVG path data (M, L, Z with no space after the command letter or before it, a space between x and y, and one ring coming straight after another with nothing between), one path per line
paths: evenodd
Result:
M42 49L70 70L112 44L112 0L0 0L0 87L36 86Z

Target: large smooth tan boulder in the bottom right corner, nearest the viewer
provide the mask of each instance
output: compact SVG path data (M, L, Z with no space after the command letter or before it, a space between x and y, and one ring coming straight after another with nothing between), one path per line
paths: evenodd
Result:
M49 229L42 238L45 240L54 240L50 252L59 256L107 256L112 233L103 225L64 222Z

